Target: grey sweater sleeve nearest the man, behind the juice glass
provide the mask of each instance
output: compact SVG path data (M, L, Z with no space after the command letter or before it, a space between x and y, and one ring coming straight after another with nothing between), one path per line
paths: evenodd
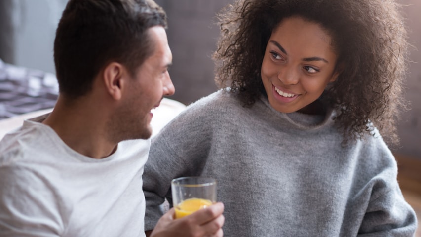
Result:
M146 199L145 230L152 230L165 211L165 199L172 206L171 180L184 176L200 176L206 163L209 124L200 112L188 109L167 124L153 139L145 165L143 191ZM186 111L185 111L186 112Z

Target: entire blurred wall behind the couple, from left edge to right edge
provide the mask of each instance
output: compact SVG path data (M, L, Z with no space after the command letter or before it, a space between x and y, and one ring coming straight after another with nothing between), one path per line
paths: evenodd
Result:
M406 5L403 11L411 31L410 42L416 49L411 53L405 93L411 110L399 124L402 144L396 152L421 159L421 52L418 50L421 48L421 0L400 1ZM0 0L0 59L6 64L38 70L37 75L40 72L47 76L54 74L54 35L66 2ZM216 90L211 60L219 35L215 13L233 0L156 2L166 10L169 19L167 34L173 53L170 75L176 87L171 99L190 104Z

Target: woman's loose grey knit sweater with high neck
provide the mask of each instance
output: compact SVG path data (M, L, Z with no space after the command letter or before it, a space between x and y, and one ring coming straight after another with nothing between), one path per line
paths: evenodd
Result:
M200 175L218 179L227 237L413 236L383 139L342 147L333 116L280 113L265 97L244 108L221 90L190 105L152 142L145 230L171 203L171 180Z

